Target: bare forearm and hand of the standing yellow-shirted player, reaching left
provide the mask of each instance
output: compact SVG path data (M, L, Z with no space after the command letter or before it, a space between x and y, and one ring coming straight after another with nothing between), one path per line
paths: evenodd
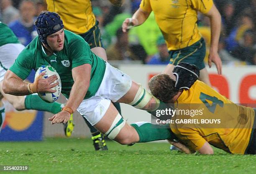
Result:
M134 14L132 18L126 18L123 21L123 32L126 32L129 28L133 27L133 26L139 26L141 24L143 24L148 16L150 15L151 12L147 12L145 10L142 10L141 8L139 8Z

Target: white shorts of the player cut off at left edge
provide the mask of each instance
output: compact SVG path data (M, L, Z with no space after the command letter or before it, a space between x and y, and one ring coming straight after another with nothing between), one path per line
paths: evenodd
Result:
M0 81L3 80L6 71L13 65L23 49L24 46L22 44L5 44L0 46Z

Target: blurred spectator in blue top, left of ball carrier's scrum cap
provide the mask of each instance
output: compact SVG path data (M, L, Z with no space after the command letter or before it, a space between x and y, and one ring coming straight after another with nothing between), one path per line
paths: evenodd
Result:
M21 44L27 46L37 36L34 25L36 6L31 0L23 0L19 6L20 18L9 24Z

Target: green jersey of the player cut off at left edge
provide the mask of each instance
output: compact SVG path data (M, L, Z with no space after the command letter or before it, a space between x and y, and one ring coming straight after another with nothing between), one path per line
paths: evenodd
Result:
M0 46L5 44L20 44L13 31L0 21Z

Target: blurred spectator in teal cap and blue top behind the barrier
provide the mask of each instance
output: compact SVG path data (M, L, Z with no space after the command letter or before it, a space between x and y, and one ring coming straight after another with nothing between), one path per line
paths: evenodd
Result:
M168 64L169 63L169 53L164 41L163 36L159 36L156 41L158 53L156 53L147 64Z

